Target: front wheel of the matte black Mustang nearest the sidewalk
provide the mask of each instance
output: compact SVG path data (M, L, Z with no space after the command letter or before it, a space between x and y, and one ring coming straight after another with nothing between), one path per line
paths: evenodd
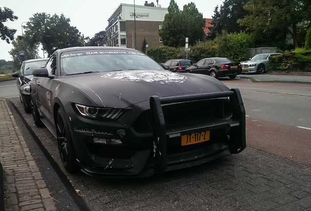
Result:
M58 109L56 114L55 125L57 145L63 166L70 173L77 172L80 169L77 165L69 127L65 119L64 111L61 108Z

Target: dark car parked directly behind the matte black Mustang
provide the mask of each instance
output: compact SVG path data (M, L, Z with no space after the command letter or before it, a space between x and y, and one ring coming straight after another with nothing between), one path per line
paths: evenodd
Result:
M48 58L25 60L22 62L21 74L19 74L18 72L12 74L12 76L16 78L16 84L19 90L20 99L26 113L31 112L29 84L31 79L33 78L32 71L35 68L44 66L47 60Z

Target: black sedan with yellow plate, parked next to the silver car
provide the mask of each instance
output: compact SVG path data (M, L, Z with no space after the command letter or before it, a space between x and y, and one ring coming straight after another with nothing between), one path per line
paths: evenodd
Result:
M228 76L230 79L234 79L242 73L242 66L241 63L227 58L205 58L194 66L186 68L185 72L209 75L213 78Z

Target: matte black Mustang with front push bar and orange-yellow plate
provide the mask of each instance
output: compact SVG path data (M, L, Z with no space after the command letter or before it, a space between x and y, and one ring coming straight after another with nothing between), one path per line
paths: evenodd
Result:
M56 136L69 172L146 177L245 148L238 89L164 70L137 50L57 50L33 75L35 124Z

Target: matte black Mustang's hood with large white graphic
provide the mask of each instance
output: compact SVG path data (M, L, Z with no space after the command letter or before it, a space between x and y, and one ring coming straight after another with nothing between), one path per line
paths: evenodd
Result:
M155 70L89 73L65 76L62 81L80 89L100 107L124 108L148 101L155 95L168 97L229 90L209 76Z

